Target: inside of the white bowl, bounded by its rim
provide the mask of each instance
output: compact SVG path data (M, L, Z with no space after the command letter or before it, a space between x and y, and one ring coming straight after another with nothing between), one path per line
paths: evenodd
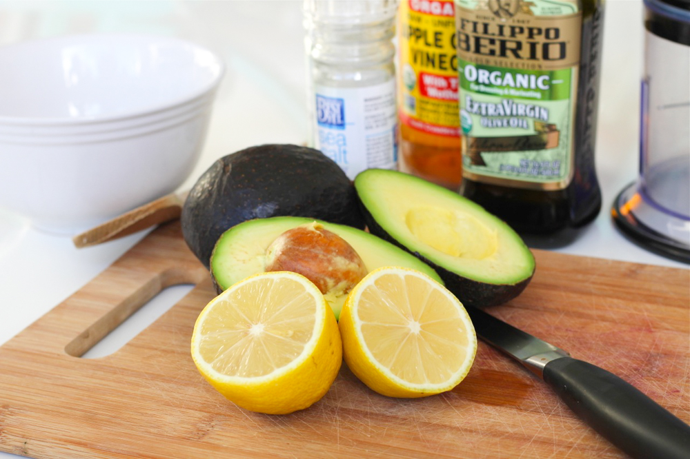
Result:
M139 34L92 34L0 50L0 124L70 124L130 118L215 88L223 65L193 43Z

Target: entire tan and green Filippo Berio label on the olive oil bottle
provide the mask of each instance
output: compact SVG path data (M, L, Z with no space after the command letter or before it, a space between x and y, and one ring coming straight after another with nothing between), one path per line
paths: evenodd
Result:
M463 176L561 190L574 164L576 0L455 0Z

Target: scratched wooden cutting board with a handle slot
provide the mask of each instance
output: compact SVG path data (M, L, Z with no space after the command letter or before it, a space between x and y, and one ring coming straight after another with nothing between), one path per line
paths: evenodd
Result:
M491 314L612 371L689 422L690 272L535 256L531 285ZM178 283L197 286L115 354L79 358ZM195 319L213 296L179 223L152 232L0 347L0 450L35 458L620 456L541 380L484 343L467 378L439 396L379 396L344 366L309 409L244 411L190 358Z

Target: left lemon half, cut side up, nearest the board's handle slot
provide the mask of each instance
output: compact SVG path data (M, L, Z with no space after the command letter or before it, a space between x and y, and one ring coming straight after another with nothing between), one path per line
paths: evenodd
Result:
M342 364L335 316L319 289L293 272L239 281L201 311L192 358L239 407L288 414L311 406Z

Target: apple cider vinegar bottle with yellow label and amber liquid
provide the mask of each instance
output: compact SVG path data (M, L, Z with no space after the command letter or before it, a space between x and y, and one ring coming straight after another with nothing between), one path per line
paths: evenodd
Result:
M398 12L400 170L460 185L453 0L402 0Z

